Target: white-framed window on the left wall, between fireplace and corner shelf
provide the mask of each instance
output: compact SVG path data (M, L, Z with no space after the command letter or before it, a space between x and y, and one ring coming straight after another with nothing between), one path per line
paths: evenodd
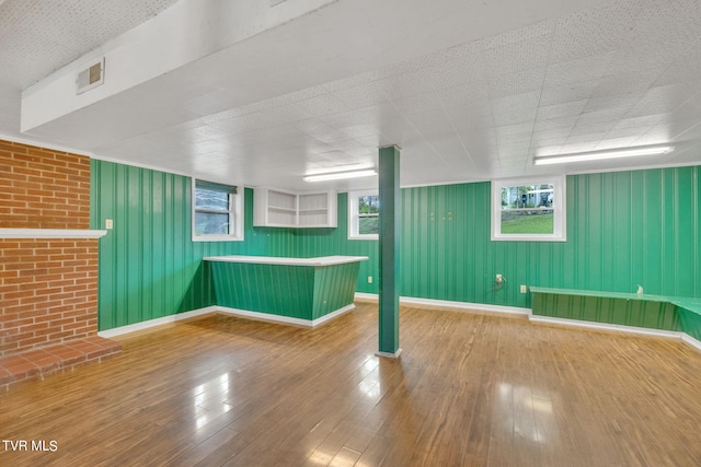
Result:
M243 192L211 182L194 185L193 241L243 240Z

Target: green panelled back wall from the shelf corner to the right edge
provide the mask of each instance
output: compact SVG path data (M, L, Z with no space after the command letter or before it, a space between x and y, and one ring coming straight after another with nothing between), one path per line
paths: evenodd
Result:
M530 307L520 284L701 297L701 167L567 177L567 242L492 242L485 183L402 189L402 296ZM358 291L377 293L377 242L300 232L302 256L367 255ZM496 273L506 278L499 290Z

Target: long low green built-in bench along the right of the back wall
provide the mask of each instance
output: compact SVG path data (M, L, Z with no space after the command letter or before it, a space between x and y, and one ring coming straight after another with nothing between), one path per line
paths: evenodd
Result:
M543 287L530 291L533 320L624 326L650 334L687 335L701 343L701 299Z

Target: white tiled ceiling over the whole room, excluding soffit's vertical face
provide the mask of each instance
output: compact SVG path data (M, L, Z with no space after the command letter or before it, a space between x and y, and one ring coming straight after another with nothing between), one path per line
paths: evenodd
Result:
M0 3L0 135L294 190L371 188L302 176L375 165L389 144L403 186L701 163L697 0L330 1L20 130L23 90L174 3ZM669 142L664 156L532 164Z

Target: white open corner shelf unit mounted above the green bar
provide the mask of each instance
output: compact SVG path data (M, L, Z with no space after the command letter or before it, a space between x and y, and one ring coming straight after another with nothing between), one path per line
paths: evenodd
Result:
M253 225L268 227L335 227L336 192L294 194L274 188L253 191Z

